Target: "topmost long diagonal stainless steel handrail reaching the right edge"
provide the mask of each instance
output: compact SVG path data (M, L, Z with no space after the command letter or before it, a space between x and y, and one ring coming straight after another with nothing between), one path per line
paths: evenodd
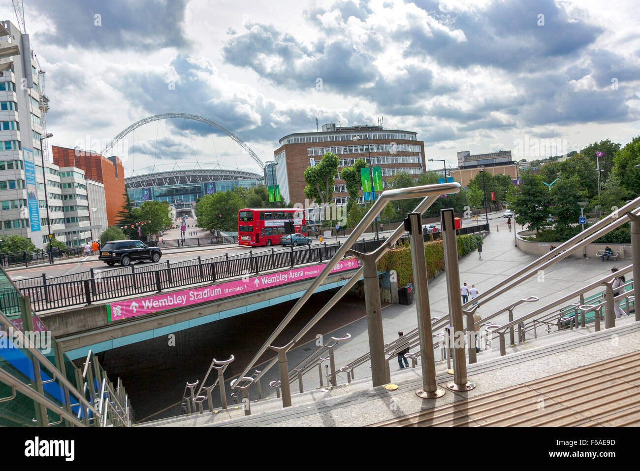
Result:
M639 204L640 204L640 197L637 197L636 199L634 199L634 201L628 204L625 204L625 206L623 206L619 210L614 211L614 213L611 213L607 217L596 222L596 224L593 224L593 226L589 226L584 231L573 236L566 242L563 242L563 244L558 245L554 250L544 255L541 255L539 258L529 263L529 265L518 270L511 276L507 277L505 280L500 281L500 283L497 283L497 285L492 286L492 288L489 288L488 290L484 291L482 294L478 295L476 298L472 299L471 301L468 301L467 304L463 305L463 308L471 306L474 302L487 302L494 299L500 294L507 292L514 286L519 285L520 283L525 281L525 279L528 279L529 277L534 276L534 274L536 274L535 271L528 273L529 270L546 268L550 265L553 265L557 261L563 260L564 258L568 257L570 254L572 254L572 252L575 252L577 249L579 249L583 245L590 244L591 242L593 242L593 240L597 240L598 238L600 238L600 236L605 235L606 233L609 233L613 229L616 229L617 227L620 227L623 224L626 224L627 222L630 221L630 218L628 217L627 213L632 213L634 215L640 214L640 210L636 209ZM516 279L522 275L525 275L525 276L523 276L520 279Z

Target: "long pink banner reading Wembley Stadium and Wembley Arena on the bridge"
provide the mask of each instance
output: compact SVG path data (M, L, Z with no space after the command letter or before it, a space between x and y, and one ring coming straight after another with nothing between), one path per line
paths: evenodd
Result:
M228 281L220 285L201 286L190 290L182 290L173 293L164 293L139 299L112 302L107 305L109 322L128 317L137 317L145 314L166 311L169 309L184 308L201 302L216 301L238 294L273 288L273 286L285 285L292 281L315 278L326 267L326 263L313 265L312 267L300 267L284 272L270 273L251 278ZM348 258L335 264L331 273L344 272L360 267L360 260Z

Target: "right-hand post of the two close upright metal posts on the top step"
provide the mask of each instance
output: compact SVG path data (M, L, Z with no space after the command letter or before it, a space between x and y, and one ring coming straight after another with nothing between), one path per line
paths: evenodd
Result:
M449 323L453 334L453 381L447 388L454 391L468 391L476 384L467 381L467 363L465 345L459 345L456 338L463 338L462 300L460 299L460 271L458 269L458 245L456 244L456 225L453 210L440 210L440 225L444 244L445 273L447 275L447 295L449 297ZM431 319L429 318L429 322ZM429 336L431 338L431 336ZM433 349L430 349L433 360ZM426 362L426 359L423 360ZM433 365L433 361L430 362Z

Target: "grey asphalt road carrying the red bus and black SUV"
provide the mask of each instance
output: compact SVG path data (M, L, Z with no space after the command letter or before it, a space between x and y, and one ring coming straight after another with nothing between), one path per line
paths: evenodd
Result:
M506 229L506 219L502 218L502 213L504 211L499 211L497 213L489 213L489 222L492 226L492 229L495 230L495 224L500 224L501 227ZM468 226L476 226L477 224L483 224L485 221L484 217L479 217L478 220L474 220L473 218L467 218L462 220L462 227ZM188 226L194 226L196 224L196 220L192 218L187 219ZM439 223L435 224L440 227ZM198 235L190 236L189 232L193 231ZM383 231L380 234L384 236L389 236L392 231ZM199 229L197 227L188 227L186 231L186 238L195 238L196 236L207 237L210 234L205 231L205 229ZM372 233L364 233L365 238L372 238L374 234ZM164 239L170 240L173 238L179 238L179 229L169 229L164 232ZM346 237L340 236L339 238L329 238L324 242L328 244L332 244L340 240L340 242L344 242ZM317 240L314 239L313 245L321 244ZM284 247L276 246L275 250L282 249ZM204 250L189 250L189 247L186 249L175 249L174 250L165 250L163 252L162 259L160 263L166 262L166 260L170 260L171 263L176 263L179 261L185 260L193 260L200 256L201 258L211 258L216 256L224 256L228 254L228 256L238 255L238 254L249 254L250 251L254 253L269 251L266 247L246 247L241 245L214 245L211 249ZM148 265L150 262L143 262L144 265ZM100 270L109 270L111 267L108 267L103 261L97 260L96 256L84 257L77 259L77 263L65 263L60 265L36 265L34 267L29 267L27 269L20 270L12 270L8 272L8 275L11 279L19 280L32 278L36 276L42 276L43 273L46 274L47 278L53 278L58 276L69 275L73 273L85 272L90 269L95 269L95 272L99 272Z

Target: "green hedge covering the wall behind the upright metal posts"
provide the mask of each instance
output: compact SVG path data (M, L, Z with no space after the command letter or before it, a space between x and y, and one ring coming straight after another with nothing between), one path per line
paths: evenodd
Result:
M478 242L482 242L482 236L478 234L461 235L456 238L458 256L465 256L477 249ZM427 262L427 276L433 278L436 273L444 270L444 249L442 240L434 240L424 243L424 259ZM411 263L411 249L402 245L397 249L388 251L378 261L378 271L387 272L396 270L398 286L413 283L413 267Z

